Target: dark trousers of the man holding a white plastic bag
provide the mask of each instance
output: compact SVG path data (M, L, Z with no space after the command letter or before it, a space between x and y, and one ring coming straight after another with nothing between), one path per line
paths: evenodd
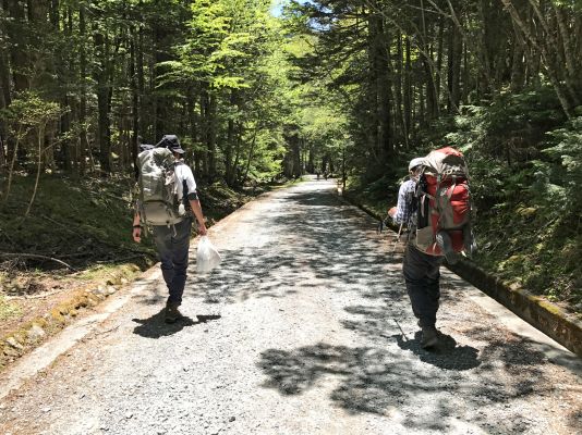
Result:
M191 231L192 219L190 217L173 226L154 226L154 241L161 261L161 274L170 291L168 303L178 306L182 303L186 284Z

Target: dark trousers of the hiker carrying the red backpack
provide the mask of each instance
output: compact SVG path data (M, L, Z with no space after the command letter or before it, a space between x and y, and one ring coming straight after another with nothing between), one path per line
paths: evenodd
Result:
M402 263L412 312L421 326L434 326L440 298L440 263L442 257L428 256L408 245Z

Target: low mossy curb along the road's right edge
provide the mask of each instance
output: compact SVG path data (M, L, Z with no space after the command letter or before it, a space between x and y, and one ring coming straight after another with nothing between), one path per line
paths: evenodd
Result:
M357 207L378 221L383 220L376 212L359 203L350 195L340 194L340 198ZM397 231L398 228L391 226L391 229ZM445 265L525 322L582 358L582 322L573 314L565 312L558 306L531 294L524 288L505 283L498 276L486 272L470 260L462 259L454 265Z

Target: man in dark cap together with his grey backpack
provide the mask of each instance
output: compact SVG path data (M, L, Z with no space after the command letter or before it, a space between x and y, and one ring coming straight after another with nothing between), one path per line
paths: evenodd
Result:
M192 170L183 161L184 150L175 135L166 135L153 148L137 156L140 196L133 217L133 239L153 228L161 262L161 273L169 297L165 320L173 323L182 316L179 307L186 282L192 222L195 217L201 235L206 225L196 194Z

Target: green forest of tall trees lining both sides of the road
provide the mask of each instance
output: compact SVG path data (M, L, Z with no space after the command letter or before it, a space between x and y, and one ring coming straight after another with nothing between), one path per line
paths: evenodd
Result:
M327 172L380 213L452 146L473 260L580 313L580 0L0 0L0 250L46 252L51 200L131 203L163 134L203 192Z

